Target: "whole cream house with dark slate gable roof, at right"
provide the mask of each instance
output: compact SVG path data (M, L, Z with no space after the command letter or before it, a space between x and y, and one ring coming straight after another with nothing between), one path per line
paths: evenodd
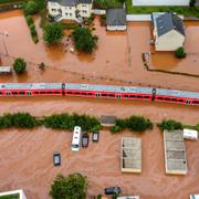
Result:
M182 20L171 13L153 13L153 34L156 51L176 51L184 46L185 27Z

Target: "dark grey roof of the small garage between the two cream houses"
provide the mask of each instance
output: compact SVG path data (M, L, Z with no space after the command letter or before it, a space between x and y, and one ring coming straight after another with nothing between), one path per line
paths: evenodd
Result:
M126 25L126 12L124 9L107 9L106 25Z

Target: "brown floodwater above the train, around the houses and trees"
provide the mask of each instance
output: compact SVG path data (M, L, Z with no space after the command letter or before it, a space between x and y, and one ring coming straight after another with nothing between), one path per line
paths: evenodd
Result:
M46 46L42 41L42 30L39 28L39 23L40 18L35 17L36 30L40 35L40 42L35 45L31 40L21 11L0 13L0 27L9 32L9 36L4 38L4 43L10 57L3 55L3 64L11 65L12 56L22 56L29 62L27 74L18 77L15 75L2 76L0 82L83 82L199 91L197 86L199 80L196 77L146 71L143 65L142 53L150 52L151 49L149 45L150 23L148 22L132 22L128 23L127 32L111 33L106 32L105 27L100 25L100 20L96 18L94 20L94 33L98 35L100 40L97 50L92 55L70 52L70 48L73 45L67 38L64 38L61 44ZM14 24L20 24L20 29ZM190 40L186 43L190 54L188 59L192 59L191 63L193 64L191 65L196 65L197 60L193 59L196 51L193 49L197 48L193 46L198 28L192 23L187 27L187 32L190 35L187 36ZM2 42L0 42L0 52L6 54ZM172 60L164 62L164 59L158 57L154 60L154 63L158 65L158 60L160 60L164 65L167 65L167 69L172 69L176 63ZM38 69L38 64L41 62L48 65L43 72ZM186 63L189 62L190 60L186 61Z

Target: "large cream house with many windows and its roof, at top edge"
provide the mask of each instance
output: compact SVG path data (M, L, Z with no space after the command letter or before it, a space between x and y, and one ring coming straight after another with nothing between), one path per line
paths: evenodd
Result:
M49 0L49 14L56 21L74 20L81 22L80 19L88 18L92 13L93 0Z

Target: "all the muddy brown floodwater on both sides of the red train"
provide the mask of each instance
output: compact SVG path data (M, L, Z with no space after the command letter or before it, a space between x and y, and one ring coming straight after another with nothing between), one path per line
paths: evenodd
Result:
M140 85L190 90L199 92L199 78L148 72L144 67L142 53L149 53L150 23L132 22L124 33L106 32L94 21L94 33L98 35L98 46L92 55L70 52L71 40L64 38L54 46L46 46L39 28L40 18L35 17L40 42L32 42L28 25L21 11L0 13L0 29L9 33L0 35L2 64L11 65L13 57L22 56L28 61L28 72L1 76L2 82L78 82L116 85ZM197 22L196 22L197 23ZM196 23L186 22L188 34L186 49L188 60L176 62L170 54L156 57L151 62L157 67L160 63L167 70L193 69L198 73L199 32ZM0 30L0 31L1 31ZM69 34L69 32L67 32ZM6 56L7 50L10 56ZM196 46L196 48L195 48ZM44 62L48 67L40 71L38 64ZM178 65L176 67L176 64ZM154 123L163 119L176 119L184 124L199 123L199 106L186 106L156 102L92 100L80 97L1 97L0 115L4 113L28 112L34 116L59 113L78 113L100 117L115 115L128 117L142 115ZM143 142L143 172L122 174L119 166L119 146L122 136L140 137ZM164 166L163 135L157 127L143 135L124 132L111 135L103 129L100 143L90 142L87 149L72 153L72 134L44 127L28 129L0 130L0 191L24 189L29 199L50 199L49 190L53 178L62 172L82 172L88 176L88 196L103 193L105 187L121 186L125 193L139 195L142 199L187 199L199 190L199 142L186 142L188 175L166 176ZM54 167L52 155L60 151L62 166Z

